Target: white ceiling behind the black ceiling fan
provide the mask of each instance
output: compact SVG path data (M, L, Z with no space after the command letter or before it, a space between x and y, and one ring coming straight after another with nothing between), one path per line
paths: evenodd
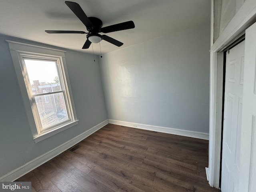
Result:
M124 43L93 44L94 54L111 52L210 22L210 0L70 0L90 17L100 18L103 27L134 21L135 28L106 35ZM78 30L86 27L64 3L65 0L0 0L0 34L82 50L86 34L47 34L44 30Z

